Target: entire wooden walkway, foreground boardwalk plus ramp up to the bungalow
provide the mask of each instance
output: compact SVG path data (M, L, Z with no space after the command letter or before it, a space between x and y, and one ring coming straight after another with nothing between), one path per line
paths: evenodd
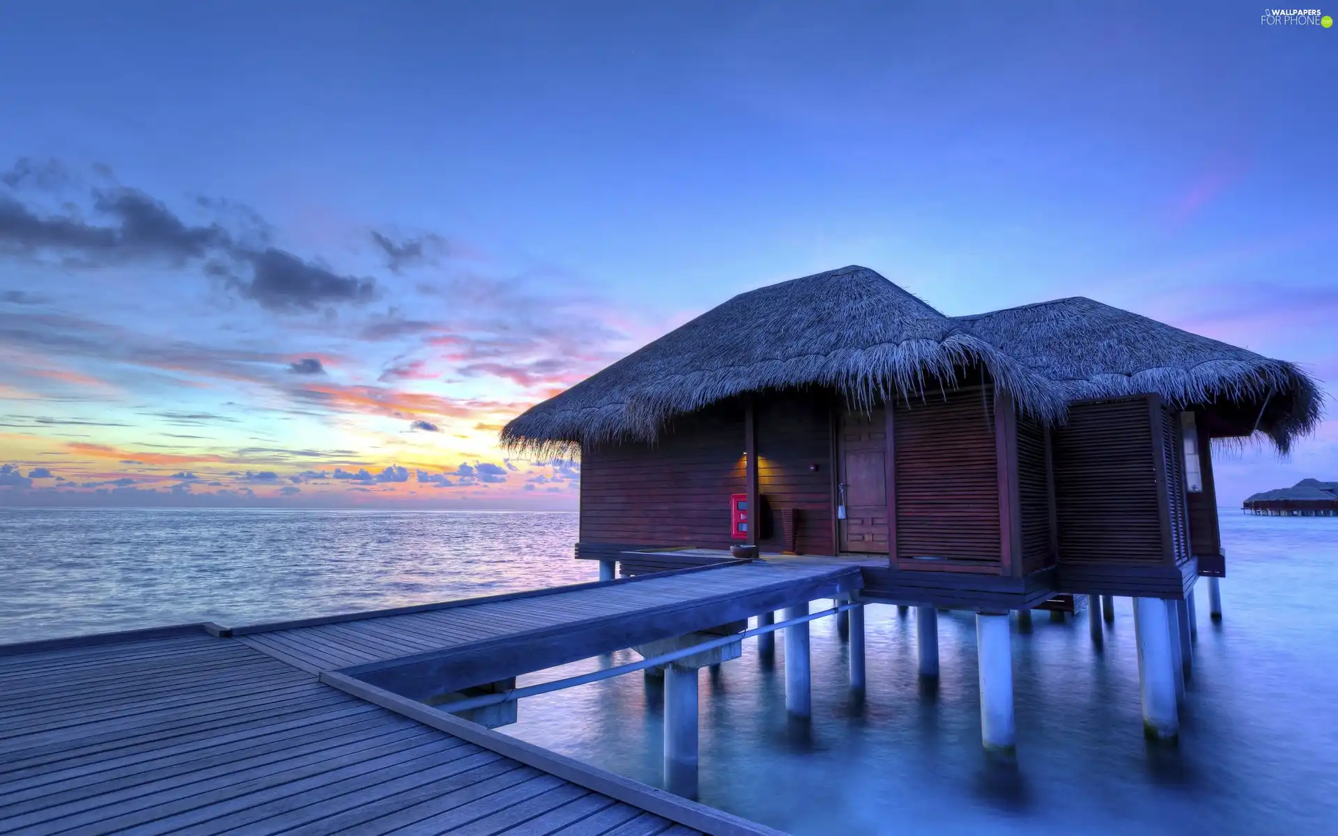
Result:
M858 579L854 563L763 562L0 646L0 833L776 833L383 686L494 681Z

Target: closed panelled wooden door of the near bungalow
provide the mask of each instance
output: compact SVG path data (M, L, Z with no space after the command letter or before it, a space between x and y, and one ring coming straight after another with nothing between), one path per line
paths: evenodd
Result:
M846 506L840 550L887 554L887 423L883 409L846 412L838 436L840 492Z

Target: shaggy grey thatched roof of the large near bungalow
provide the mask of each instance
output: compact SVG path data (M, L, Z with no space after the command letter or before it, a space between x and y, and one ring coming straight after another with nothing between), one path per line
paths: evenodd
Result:
M1086 298L947 317L874 270L842 268L712 308L502 431L512 449L654 440L669 419L763 389L831 387L852 404L954 385L983 367L1049 423L1077 399L1157 393L1177 404L1278 399L1260 421L1279 449L1319 420L1297 367Z

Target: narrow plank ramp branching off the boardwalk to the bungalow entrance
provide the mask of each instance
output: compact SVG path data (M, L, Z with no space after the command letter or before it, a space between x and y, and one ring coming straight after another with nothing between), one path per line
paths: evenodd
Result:
M565 665L859 589L859 563L784 558L613 583L234 627L310 673L341 671L413 700Z

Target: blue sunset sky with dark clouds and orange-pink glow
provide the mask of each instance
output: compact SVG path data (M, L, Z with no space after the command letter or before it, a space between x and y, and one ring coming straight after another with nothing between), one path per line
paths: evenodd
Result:
M7 7L0 506L574 508L502 424L850 264L1338 395L1338 27L1006 7ZM1329 416L1222 504L1338 479Z

